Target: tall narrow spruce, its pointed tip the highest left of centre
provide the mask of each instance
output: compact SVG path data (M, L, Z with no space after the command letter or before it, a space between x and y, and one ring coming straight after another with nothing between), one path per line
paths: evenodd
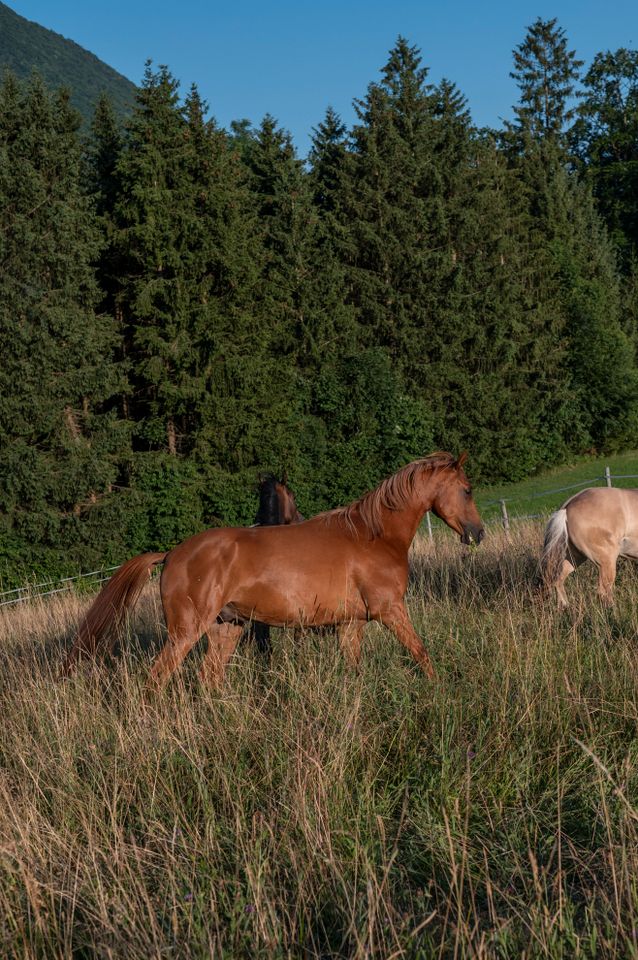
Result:
M118 308L132 364L130 415L139 440L175 455L193 400L191 289L185 251L193 218L193 184L184 176L186 121L178 84L147 64L126 149L117 169L117 249L125 260Z

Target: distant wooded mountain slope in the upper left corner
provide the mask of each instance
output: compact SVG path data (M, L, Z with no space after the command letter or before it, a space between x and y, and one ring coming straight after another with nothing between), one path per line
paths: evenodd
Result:
M128 113L135 99L135 85L94 54L0 3L0 74L6 69L22 78L37 70L48 86L68 87L86 122L102 93L120 114Z

